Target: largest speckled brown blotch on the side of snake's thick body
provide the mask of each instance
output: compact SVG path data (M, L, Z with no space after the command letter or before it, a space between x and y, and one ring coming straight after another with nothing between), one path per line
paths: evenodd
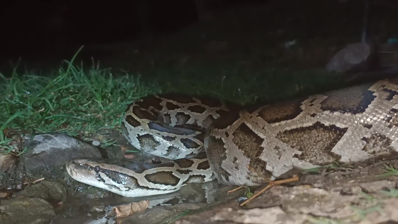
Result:
M340 155L332 153L332 149L346 131L347 128L338 128L334 125L325 126L316 122L310 127L278 133L276 138L301 151L301 155L295 155L298 159L316 165L324 165L341 158Z

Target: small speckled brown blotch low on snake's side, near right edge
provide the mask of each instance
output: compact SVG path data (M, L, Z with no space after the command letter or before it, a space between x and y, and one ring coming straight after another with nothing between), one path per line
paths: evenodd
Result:
M392 140L382 134L373 134L370 138L364 137L362 140L366 142L362 150L369 154L390 153L394 151L394 148L390 146Z

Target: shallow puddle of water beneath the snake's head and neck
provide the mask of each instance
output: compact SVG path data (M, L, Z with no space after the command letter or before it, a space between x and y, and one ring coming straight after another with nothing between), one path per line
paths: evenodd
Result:
M111 210L112 206L119 204L128 204L130 202L139 202L141 200L148 200L148 209L161 205L175 205L179 203L195 203L202 202L211 204L229 200L231 198L238 198L236 194L228 194L228 190L233 187L225 187L211 181L202 184L189 184L184 186L177 192L166 195L154 195L147 197L127 198L120 195L111 194L111 197L89 199L89 198L68 198L64 202L62 210L58 213L59 216L53 218L52 224L102 224L113 223L113 218L105 217L105 211ZM91 222L90 222L91 220ZM106 222L104 222L106 221ZM108 222L109 221L109 222Z

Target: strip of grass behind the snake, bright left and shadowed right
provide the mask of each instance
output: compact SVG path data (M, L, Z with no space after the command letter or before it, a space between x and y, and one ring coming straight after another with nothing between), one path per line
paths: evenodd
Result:
M82 48L79 49L79 51ZM101 130L119 129L121 114L133 100L148 94L205 94L236 104L271 103L290 96L332 89L341 79L321 70L229 67L159 66L144 75L113 73L99 64L85 68L75 58L63 61L53 75L33 72L0 73L0 147L20 155L11 136L66 132L87 139ZM14 134L14 135L12 135ZM103 140L103 145L113 142Z

